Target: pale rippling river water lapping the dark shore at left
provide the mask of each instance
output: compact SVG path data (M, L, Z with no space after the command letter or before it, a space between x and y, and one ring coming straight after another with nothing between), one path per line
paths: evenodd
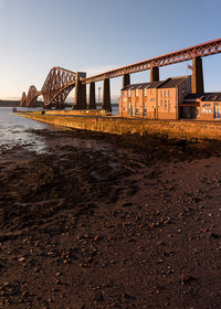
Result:
M18 110L36 110L31 108L18 108ZM117 110L113 110L117 114ZM61 127L53 127L40 121L34 121L24 117L19 117L12 113L12 107L0 107L0 154L7 149L22 147L24 150L35 151L36 153L50 152L56 146L72 145L81 149L96 149L101 151L112 150L112 147L104 141L94 139L81 139L74 136L63 137L53 140L39 134L39 130L57 131ZM65 130L69 130L67 128ZM51 149L51 150L50 150Z

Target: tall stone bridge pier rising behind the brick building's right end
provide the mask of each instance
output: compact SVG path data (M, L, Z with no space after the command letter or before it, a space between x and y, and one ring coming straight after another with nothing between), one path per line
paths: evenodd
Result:
M202 58L200 56L192 60L192 94L203 94L203 72Z

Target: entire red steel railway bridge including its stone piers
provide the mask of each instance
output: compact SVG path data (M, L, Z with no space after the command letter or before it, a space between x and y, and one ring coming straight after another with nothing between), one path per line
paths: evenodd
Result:
M112 110L109 79L123 76L123 87L130 84L130 74L150 70L150 82L159 81L159 67L192 60L192 93L203 93L202 57L221 53L221 39L190 46L169 54L160 55L138 63L122 66L95 76L86 77L86 73L72 72L62 67L53 67L40 92L32 85L28 96L22 94L20 106L34 107L40 95L44 107L64 108L70 92L75 87L75 109L95 109L95 83L104 82L103 109ZM86 84L90 84L88 104L86 102Z

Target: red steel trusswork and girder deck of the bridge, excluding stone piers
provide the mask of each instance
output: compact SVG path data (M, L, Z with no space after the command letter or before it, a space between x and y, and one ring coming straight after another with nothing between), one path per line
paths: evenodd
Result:
M84 74L78 74L78 77L81 78L81 85L93 84L95 82L106 81L107 78L119 77L126 74L138 73L151 70L154 67L166 66L218 53L221 53L221 39L209 41L130 65L122 66L119 68L115 68L87 78L85 78ZM76 78L78 78L76 76L77 73L75 72L57 66L53 67L50 71L41 92L38 92L34 86L31 86L32 89L30 87L28 97L25 96L25 93L22 94L20 106L33 106L36 97L42 95L45 107L55 106L55 108L63 108L67 95L76 85Z

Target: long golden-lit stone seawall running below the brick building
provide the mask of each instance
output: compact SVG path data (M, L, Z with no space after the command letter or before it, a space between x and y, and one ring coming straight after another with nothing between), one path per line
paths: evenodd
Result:
M108 134L161 134L170 138L198 138L221 140L221 121L197 120L147 120L101 116L57 116L18 114L33 120Z

